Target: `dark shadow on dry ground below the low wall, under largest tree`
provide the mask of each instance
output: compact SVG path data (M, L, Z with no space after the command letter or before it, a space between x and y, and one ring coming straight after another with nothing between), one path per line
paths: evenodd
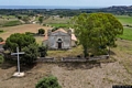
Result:
M97 61L90 61L90 62L73 62L73 63L59 63L59 67L64 67L68 70L74 69L91 69L94 67L101 67L100 63Z

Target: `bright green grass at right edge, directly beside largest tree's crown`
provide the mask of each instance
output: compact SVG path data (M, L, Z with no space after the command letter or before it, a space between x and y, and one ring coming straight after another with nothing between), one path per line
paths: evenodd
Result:
M131 28L124 28L123 35L120 35L119 37L123 38L123 40L132 41L132 29Z

